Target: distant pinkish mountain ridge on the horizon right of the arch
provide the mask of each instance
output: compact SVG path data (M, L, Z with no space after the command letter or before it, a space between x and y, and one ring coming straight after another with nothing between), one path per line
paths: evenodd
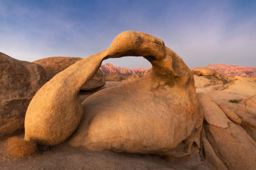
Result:
M206 66L226 76L252 76L256 77L256 67L242 67L238 65L210 64Z

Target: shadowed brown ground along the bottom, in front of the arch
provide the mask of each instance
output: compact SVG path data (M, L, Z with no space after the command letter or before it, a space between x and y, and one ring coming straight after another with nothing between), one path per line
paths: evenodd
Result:
M169 163L161 156L95 152L72 148L67 143L27 158L13 158L5 153L5 143L6 140L0 141L0 169L209 169L201 163L195 165L193 159Z

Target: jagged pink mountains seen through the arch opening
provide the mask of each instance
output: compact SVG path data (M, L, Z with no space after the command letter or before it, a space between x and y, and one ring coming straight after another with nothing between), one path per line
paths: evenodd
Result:
M131 76L133 74L147 74L152 67L148 67L144 69L143 67L138 69L128 69L126 67L116 67L111 63L107 63L100 66L100 70L105 74L117 74L122 76Z

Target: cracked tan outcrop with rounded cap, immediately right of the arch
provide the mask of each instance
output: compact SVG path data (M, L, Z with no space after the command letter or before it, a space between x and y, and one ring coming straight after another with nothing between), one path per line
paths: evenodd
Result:
M206 67L192 69L197 92L210 92L224 87L228 79L222 74Z

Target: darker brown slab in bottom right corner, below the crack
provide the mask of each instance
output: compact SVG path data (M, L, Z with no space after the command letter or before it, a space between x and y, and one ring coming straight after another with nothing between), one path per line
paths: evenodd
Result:
M243 128L230 123L229 128L204 125L206 136L216 154L229 169L254 169L256 143Z

